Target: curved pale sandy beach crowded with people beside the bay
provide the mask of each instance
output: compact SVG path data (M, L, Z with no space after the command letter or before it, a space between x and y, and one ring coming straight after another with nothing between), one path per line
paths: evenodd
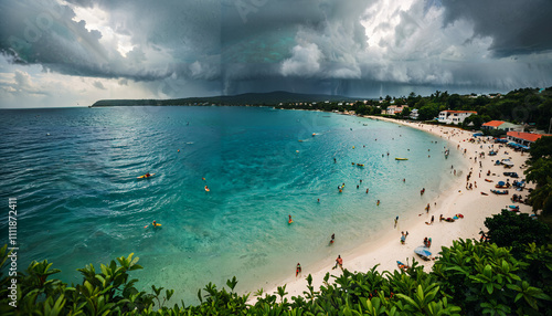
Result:
M486 231L484 224L485 219L491 217L492 214L500 213L501 209L507 206L516 204L519 206L520 212L531 212L530 206L513 203L510 200L513 193L521 193L523 199L527 199L529 194L527 190L518 192L510 188L509 194L505 196L496 196L490 192L490 189L495 189L495 185L498 181L507 181L507 178L509 177L503 176L505 171L518 172L520 178L510 179L510 182L524 178L523 169L521 169L520 166L524 165L528 154L521 155L521 152L514 152L507 147L498 148L499 145L495 144L493 149L495 151L498 150L498 155L491 157L487 154L490 151L488 146L492 143L469 143L468 140L474 134L470 131L452 127L406 123L382 117L372 118L389 120L395 124L423 129L428 133L433 133L443 139L450 140L452 144L449 145L449 149L452 155L463 155L469 167L466 168L466 170L457 170L457 181L449 190L442 192L435 201L431 202L429 212L426 213L424 209L421 209L410 219L400 219L397 227L385 235L382 235L378 241L372 241L370 244L362 245L353 252L341 253L341 257L343 259L343 268L349 271L367 272L374 265L380 264L378 266L378 271L393 271L397 268L397 260L403 263L406 263L406 261L412 263L412 259L415 257L416 261L425 266L425 271L428 272L431 271L433 261L423 261L413 252L415 247L423 245L424 238L432 238L433 243L431 251L433 252L433 255L436 256L438 255L442 246L452 245L454 240L460 238L479 239L480 229ZM481 145L482 148L480 148ZM466 154L463 154L465 149ZM486 156L482 159L478 157L477 162L475 162L475 157L478 156L479 152L485 152ZM435 155L443 154L435 152ZM511 159L514 164L513 168L505 169L503 166L495 166L496 160L506 158ZM479 161L482 164L481 168L479 167ZM470 172L470 169L473 175L469 182L474 185L474 188L473 190L466 190L466 177ZM490 170L491 176L487 176L488 170ZM493 182L485 181L486 178L492 180ZM477 188L475 185L477 185ZM484 196L481 192L486 192L488 196ZM461 213L464 218L456 220L455 222L439 222L439 214L443 214L444 218L453 218L457 213ZM428 225L426 222L431 221L432 215L435 218L435 221L433 224ZM390 227L392 224L393 223L390 223ZM400 242L401 231L408 232L405 244L401 244ZM339 247L338 239L332 246ZM318 289L320 285L322 285L326 273L329 272L332 275L341 273L341 270L339 268L332 270L335 262L336 257L328 257L327 261L322 263L323 267L319 271L310 271L308 266L302 266L302 273L297 277L295 277L294 267L290 266L290 277L282 281L279 286L287 284L286 292L288 292L288 298L291 296L302 295L302 292L307 289L307 281L305 277L308 274L311 274L315 289ZM274 292L276 292L276 287L265 288L265 293ZM255 296L252 296L250 303L254 303L255 299Z

